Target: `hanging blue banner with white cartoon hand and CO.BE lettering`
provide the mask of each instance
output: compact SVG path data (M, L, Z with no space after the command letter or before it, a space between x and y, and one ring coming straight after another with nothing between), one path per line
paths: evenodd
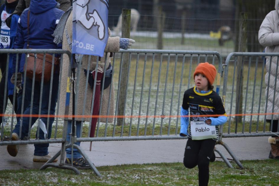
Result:
M73 1L73 54L103 57L108 39L108 0Z

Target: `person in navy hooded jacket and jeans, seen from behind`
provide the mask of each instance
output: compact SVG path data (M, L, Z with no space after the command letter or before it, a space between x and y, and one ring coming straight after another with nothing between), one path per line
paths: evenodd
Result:
M57 2L55 0L32 0L30 2L30 7L25 9L18 21L17 25L17 36L14 43L14 49L27 49L27 41L29 41L29 48L32 49L61 49L62 44L55 44L53 43L53 36L51 34L56 28L56 25L59 22L63 11L56 8ZM29 34L27 30L27 16L28 12L30 12L29 18ZM25 54L22 54L18 60L18 72L23 73L24 70L24 63L25 63ZM13 73L18 73L15 71L16 67L16 57L13 58ZM13 76L14 76L13 74ZM56 108L56 100L58 94L58 82L59 81L59 70L56 70L53 73L53 81L44 82L43 83L43 92L42 92L42 100L40 100L40 89L41 89L41 82L35 81L32 82L32 79L26 77L25 84L25 95L28 100L28 106L24 110L23 114L39 114L39 107L41 106L40 114L46 115L48 114L48 105L50 101L50 115L55 114ZM16 82L16 80L15 80ZM33 104L31 110L31 95L32 95L32 84L34 83L34 92L33 92ZM52 86L51 86L52 84ZM51 90L51 92L50 92ZM51 97L50 97L51 95ZM41 103L41 105L40 105ZM31 126L37 120L37 117L31 118ZM21 136L21 140L28 134L29 130L29 120L30 117L23 117L22 119L22 130L21 135L20 132L20 123L19 121L12 133L12 140L19 140L19 136ZM48 121L49 120L49 121ZM51 129L53 124L54 118L50 117L41 117L40 118L40 131L39 131L39 139L50 139L51 136ZM48 126L49 123L49 126ZM43 131L43 125L47 131ZM48 127L47 127L48 126ZM46 135L45 135L46 134ZM37 133L36 133L37 138ZM48 154L48 143L45 144L34 144L34 162L46 162L50 158L52 158ZM12 156L16 156L18 153L17 145L8 145L7 146L8 153ZM57 160L56 160L57 161Z

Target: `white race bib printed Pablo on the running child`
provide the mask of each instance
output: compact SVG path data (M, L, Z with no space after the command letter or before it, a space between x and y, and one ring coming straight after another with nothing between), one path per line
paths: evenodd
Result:
M208 125L204 121L191 121L192 140L204 140L216 138L216 127Z

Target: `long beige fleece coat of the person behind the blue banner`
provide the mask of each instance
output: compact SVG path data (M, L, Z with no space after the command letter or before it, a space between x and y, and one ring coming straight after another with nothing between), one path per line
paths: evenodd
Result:
M65 28L65 32L67 31L68 36L70 41L72 41L72 13L70 14L67 23L66 23L66 28ZM62 49L66 49L71 51L70 46L67 42L66 39L66 33L64 32L63 35L63 47ZM119 42L120 38L119 37L110 37L110 31L109 31L109 38L107 41L107 46L105 48L105 52L118 52L119 51ZM102 67L102 69L107 69L108 65L110 64L110 53L108 53L108 57L107 57L107 64L106 67L104 67L105 65L105 55L104 57L101 57L101 60L98 62L98 65L100 67ZM89 55L84 55L82 58L82 67L87 68L88 66L88 59L89 59ZM91 56L91 60L90 60L90 67L89 70L95 70L96 67L96 62L97 59L99 59L99 57L96 56ZM68 77L68 68L69 68L69 64L71 62L69 62L69 58L67 55L63 55L63 66L62 66L62 74L61 74L61 90L66 90L66 86L67 86L67 77ZM87 94L86 97L84 96L85 93L85 87L87 86ZM111 91L111 100L110 100L110 109L109 109L109 113L108 115L114 115L114 88L112 87L112 91ZM72 90L71 90L72 92ZM92 94L93 94L93 90L91 89L91 87L89 86L88 82L86 82L86 76L83 73L83 70L81 70L81 74L80 74L80 80L79 80L79 90L76 90L76 93L78 92L78 105L76 105L76 115L90 115L91 114L91 99L92 99ZM109 93L110 93L110 89L107 88L104 90L104 94L103 94L103 99L102 99L102 110L100 111L101 115L107 115L107 106L108 106L108 102L109 102ZM85 99L86 98L86 99ZM59 103L59 114L64 114L65 112L65 101L66 101L66 91L61 91L60 93L60 103ZM71 100L72 101L72 100ZM72 105L72 102L70 101L70 105ZM83 113L83 105L84 102L86 102L85 104L85 110ZM72 108L69 108L69 114L72 113ZM91 121L91 118L85 117L85 118L76 118L77 121ZM112 122L113 118L108 118L108 122ZM106 118L100 118L100 122L106 122Z

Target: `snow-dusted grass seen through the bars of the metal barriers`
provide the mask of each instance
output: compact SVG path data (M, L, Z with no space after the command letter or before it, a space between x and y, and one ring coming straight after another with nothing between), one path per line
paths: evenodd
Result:
M153 115L179 115L179 113L177 113L177 108L180 108L180 105L182 103L182 97L183 97L183 92L187 89L188 84L189 87L194 85L193 82L193 69L195 68L195 66L198 64L198 56L194 55L193 56L193 61L192 61L192 66L190 66L190 56L187 55L185 58L185 65L183 68L183 73L182 73L182 55L180 55L178 57L177 60L177 66L176 66L176 70L175 70L175 55L171 55L170 57L170 62L169 62L169 69L167 71L167 58L164 56L163 60L162 60L162 64L161 64L161 70L159 71L159 66L160 66L160 56L159 55L155 55L155 60L154 60L154 64L153 64L153 72L152 72L152 81L151 81L151 86L150 86L150 80L151 80L151 69L152 69L152 54L148 54L147 56L147 60L146 63L144 62L144 54L140 54L140 58L139 58L139 62L138 62L138 68L136 69L136 56L132 56L132 60L131 60L131 64L130 64L130 76L129 76L129 84L128 84L128 95L127 95L127 103L126 103L126 112L125 115L126 116L130 116L131 115L131 110L132 110L132 102L134 101L134 107L133 107L133 115L137 116L137 115L141 115L141 116L153 116ZM200 56L200 62L203 62L204 56ZM255 59L253 58L252 61L254 61ZM212 61L212 56L208 57L208 61ZM215 58L215 66L216 68L218 68L218 59ZM119 76L119 66L120 66L120 58L116 57L115 58L115 64L113 64L115 67L115 74L114 74L114 87L115 87L115 104L116 104L116 95L117 95L117 87L118 87L118 76ZM144 72L144 65L145 65L145 78L143 79L143 72ZM190 67L192 68L192 70L190 70ZM253 111L253 113L257 113L258 112L258 105L260 105L261 109L260 112L264 113L264 108L265 108L265 95L263 93L264 91L264 86L262 87L262 89L260 89L260 85L261 85L261 78L262 76L265 74L265 68L263 70L262 73L262 63L259 62L258 64L258 71L257 73L255 73L255 65L254 63L252 63L252 65L250 66L250 68L248 69L248 65L247 63L245 63L243 69L244 69L244 84L243 84L243 97L245 98L245 93L246 90L248 91L248 96L247 96L247 108L246 108L246 113L251 113ZM250 76L248 77L248 70L250 70ZM233 74L234 72L234 65L232 62L232 65L229 66L229 74L228 74L228 86L226 89L226 105L225 105L225 109L226 109L226 113L227 114L234 114L234 110L235 110L235 100L236 98L236 93L235 93L235 87L234 89L232 89L232 85L233 85ZM136 77L136 86L134 89L134 82L135 82L135 74L137 73L137 77ZM159 73L160 73L160 79L158 80L159 77ZM190 76L189 76L190 74ZM254 76L254 74L256 74L256 76ZM1 76L1 75L0 75ZM190 81L189 81L189 77L190 77ZM175 81L174 81L175 78ZM181 93L179 92L179 88L180 88L180 81L182 79L182 90ZM247 82L247 80L249 79L249 84L247 87L247 84L245 82ZM254 80L255 83L254 83ZM173 84L174 82L174 84ZM156 92L157 92L157 86L158 83L160 83L159 85L159 89L158 89L158 97L156 96ZM221 78L221 92L220 95L222 94L223 88L222 88L222 84L223 83L223 78ZM216 86L216 81L215 84ZM234 82L234 86L236 86L236 82ZM252 92L253 92L253 88L255 87L255 96L254 96L254 107L251 108L251 104L252 104ZM149 94L149 88L150 88L150 92L151 94ZM166 89L166 92L164 93L164 90ZM141 98L141 91L143 92L142 94L142 100ZM260 97L259 94L260 92L262 92L262 97L261 97L261 101L260 101ZM231 100L231 96L232 93L234 93L233 95L233 100ZM133 100L133 94L135 95L135 99ZM179 99L179 94L180 94L180 99ZM148 105L148 97L150 96L150 103ZM163 100L164 100L164 96L165 96L165 102L164 102L164 110L163 110ZM173 100L171 100L173 96ZM157 105L155 105L155 100L158 100ZM172 109L171 109L171 102L172 102ZM142 104L142 109L141 109L141 113L139 112L139 105L140 103ZM244 102L245 103L245 102ZM147 114L147 106L149 106L149 113ZM232 110L231 110L231 106L232 106ZM155 114L155 108L156 110L156 114ZM12 111L12 105L9 103L8 107L7 107L7 111L6 113L11 113ZM263 130L263 117L264 116L260 116L260 124L259 124L259 129L258 131L262 131ZM178 118L178 120L180 120ZM257 124L255 124L254 121L257 120L257 116L253 116L252 117L252 132L256 131L257 129ZM176 121L177 118L171 118L170 119L170 134L174 134L175 130L176 130ZM248 132L249 131L249 121L250 121L250 116L246 116L245 118L245 123L244 123L244 132ZM10 123L11 120L9 118L8 122ZM161 118L148 118L147 120L145 118L141 118L139 121L139 135L143 135L144 133L144 129L145 129L145 124L147 125L147 134L146 135L151 135L152 133L152 125L153 122L155 124L155 129L154 129L154 135L158 135L158 131L160 131L160 125L161 125ZM59 125L63 123L63 121L59 121ZM138 118L133 118L131 120L132 125L132 131L131 131L131 135L135 135L137 134L137 124L138 124ZM162 135L167 134L168 131L168 123L169 123L169 118L165 118L162 121ZM127 118L125 120L125 125L123 126L123 135L127 136L128 132L129 132L129 125L130 124L130 118ZM9 131L9 126L7 126L7 130ZM61 126L58 126L58 129ZM85 130L86 126L84 127ZM87 126L88 128L88 126ZM179 131L180 129L180 121L178 121L178 128L177 130ZM237 132L242 132L242 125L238 126ZM269 127L266 127L266 129L269 129ZM35 130L35 129L33 129ZM100 126L99 129L99 136L103 136L104 135L104 125ZM109 124L108 126L108 133L107 136L111 136L112 135L112 130L113 130L113 126L112 124ZM121 132L121 126L116 126L116 133L115 135L120 135L119 131ZM228 131L228 125L225 124L224 125L224 132ZM231 123L231 129L230 132L234 132L234 122L233 122L233 118L232 118L232 123ZM9 132L8 132L9 133ZM6 129L4 134L6 135ZM54 134L54 133L53 133ZM87 132L85 132L85 135L87 135ZM58 136L59 136L59 130L58 130Z

